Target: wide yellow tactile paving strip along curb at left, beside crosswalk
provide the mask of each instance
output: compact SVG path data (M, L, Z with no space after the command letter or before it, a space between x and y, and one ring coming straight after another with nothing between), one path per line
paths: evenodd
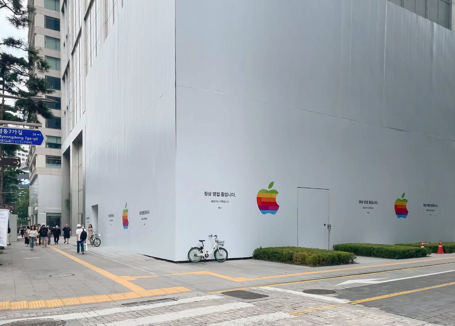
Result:
M173 286L162 289L142 290L138 292L125 292L116 294L105 294L101 296L79 296L76 298L36 300L36 301L1 301L0 310L13 309L33 309L33 308L51 308L61 306L83 305L87 303L109 302L135 298L146 298L149 296L163 296L166 294L175 294L189 292L190 289L184 286Z

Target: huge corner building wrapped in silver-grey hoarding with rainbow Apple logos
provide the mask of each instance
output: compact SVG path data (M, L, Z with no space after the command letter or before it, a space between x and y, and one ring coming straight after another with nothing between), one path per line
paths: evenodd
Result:
M393 2L67 1L73 224L172 261L453 238L452 4Z

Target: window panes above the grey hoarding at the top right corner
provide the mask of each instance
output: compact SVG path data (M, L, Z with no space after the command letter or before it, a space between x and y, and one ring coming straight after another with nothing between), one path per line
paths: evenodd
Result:
M425 17L438 25L451 29L452 0L389 0L395 5L410 10L417 15Z

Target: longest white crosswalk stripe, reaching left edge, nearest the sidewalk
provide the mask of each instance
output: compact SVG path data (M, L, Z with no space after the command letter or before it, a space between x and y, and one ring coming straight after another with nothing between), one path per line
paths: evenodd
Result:
M209 296L192 296L189 298L183 298L177 301L167 301L167 302L157 302L157 303L151 303L148 305L142 305L142 306L133 306L133 307L118 307L118 308L108 308L108 309L102 309L102 310L94 310L94 311L84 311L84 312L74 312L70 314L65 314L65 315L51 315L51 316L46 316L46 318L52 319L60 319L64 321L70 321L73 319L83 319L83 318L91 318L91 317L96 317L96 316L107 316L107 315L113 315L117 313L123 313L123 312L128 312L128 311L141 311L141 310L146 310L146 309L154 309L154 308L159 308L159 307L168 307L168 306L177 306L180 304L184 303L192 303L192 302L200 302L200 301L207 301L207 300L217 300L217 299L222 299L222 296L215 296L215 295L209 295ZM5 323L10 323L13 321L25 321L25 320L33 320L33 319L43 319L42 316L38 317L29 317L29 318L20 318L20 319L10 319L10 320L5 320L5 321L0 321L0 325L3 325Z

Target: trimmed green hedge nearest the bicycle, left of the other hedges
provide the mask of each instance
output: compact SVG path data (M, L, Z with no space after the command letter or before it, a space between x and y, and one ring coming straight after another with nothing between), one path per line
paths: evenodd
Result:
M332 251L299 247L268 247L257 248L253 258L262 261L276 261L305 266L331 266L353 264L355 255L351 252Z

